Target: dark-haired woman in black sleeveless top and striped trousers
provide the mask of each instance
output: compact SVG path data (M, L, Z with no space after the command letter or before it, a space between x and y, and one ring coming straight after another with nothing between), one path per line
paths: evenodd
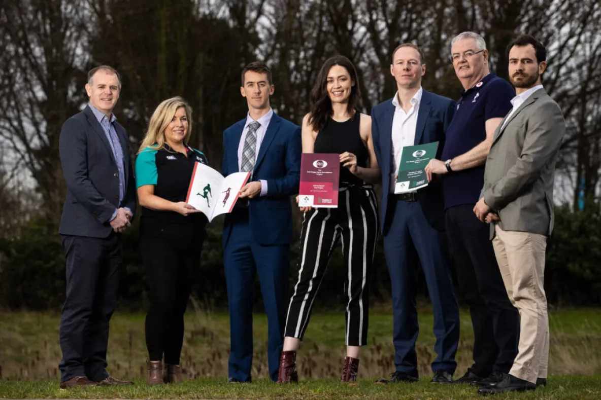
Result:
M338 208L301 207L299 276L290 298L279 363L279 383L298 380L296 350L309 322L313 300L332 250L342 241L346 345L341 381L355 381L359 347L367 344L369 283L377 239L377 200L371 184L380 169L371 140L371 118L357 111L361 98L352 62L329 58L311 90L311 111L302 124L303 153L340 155ZM298 197L297 197L298 201Z

